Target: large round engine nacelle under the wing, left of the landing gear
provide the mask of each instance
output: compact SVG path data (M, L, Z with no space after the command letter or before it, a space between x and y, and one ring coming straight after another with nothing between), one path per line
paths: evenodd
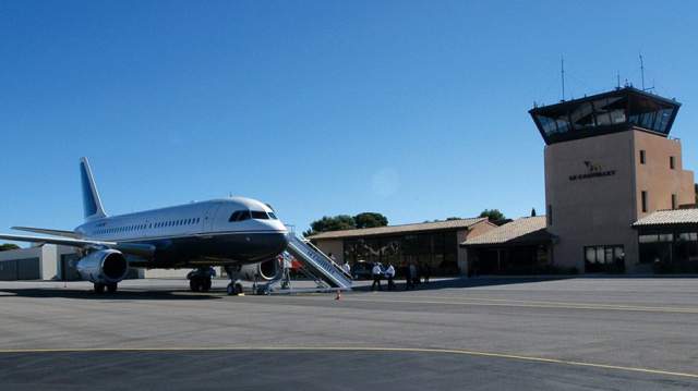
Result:
M129 272L129 262L116 249L101 249L82 258L77 265L77 272L91 282L109 284L123 280Z

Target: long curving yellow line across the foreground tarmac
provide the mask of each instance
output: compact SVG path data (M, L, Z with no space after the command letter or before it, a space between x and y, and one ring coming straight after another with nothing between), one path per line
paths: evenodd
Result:
M544 358L509 353L479 352L460 349L428 349L428 347L363 347L363 346L210 346L210 347L86 347L86 349L2 349L0 354L9 353L107 353L107 352L402 352L402 353L431 353L431 354L462 354L468 356L509 358L532 363L558 364L577 367L599 369L613 369L622 371L640 372L648 375L675 376L698 379L698 374L679 372L664 369L626 367L621 365L575 362L561 358Z

